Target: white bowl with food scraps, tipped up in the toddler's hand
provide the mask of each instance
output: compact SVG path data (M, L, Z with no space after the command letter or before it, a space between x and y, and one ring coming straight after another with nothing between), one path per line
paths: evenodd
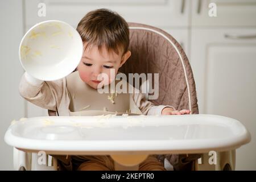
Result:
M82 39L75 28L59 20L47 20L23 36L19 60L31 76L51 81L72 73L81 60L82 51Z

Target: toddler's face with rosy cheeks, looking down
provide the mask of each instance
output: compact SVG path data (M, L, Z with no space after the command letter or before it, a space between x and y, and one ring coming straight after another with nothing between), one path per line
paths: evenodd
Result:
M97 46L92 46L86 48L82 55L79 66L77 67L79 71L79 76L86 84L90 85L92 88L97 89L98 84L104 81L104 85L110 84L114 81L115 75L117 75L118 69L125 63L125 61L130 57L131 52L127 51L122 55L120 53L117 55L114 51L110 53L103 47L100 51ZM114 78L110 78L110 69L114 69ZM99 78L98 75L105 73L108 75L108 80L104 78ZM103 85L102 85L103 86Z

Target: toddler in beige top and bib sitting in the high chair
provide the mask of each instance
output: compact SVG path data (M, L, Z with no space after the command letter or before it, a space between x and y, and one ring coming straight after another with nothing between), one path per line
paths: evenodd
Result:
M22 97L35 105L54 111L56 115L97 115L105 113L189 114L189 110L175 110L172 106L155 106L143 93L107 94L97 92L117 80L118 69L131 56L129 27L117 13L106 9L90 11L77 26L84 53L76 71L55 81L38 80L27 72L19 85ZM102 77L100 75L108 77ZM107 79L106 79L107 78ZM114 77L115 78L115 77ZM73 170L114 170L110 156L55 156L60 167ZM139 165L139 170L165 170L154 155Z

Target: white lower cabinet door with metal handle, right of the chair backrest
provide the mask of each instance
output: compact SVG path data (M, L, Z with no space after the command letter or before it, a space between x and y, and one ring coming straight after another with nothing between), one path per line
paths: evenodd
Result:
M238 119L251 142L237 169L256 169L256 29L192 30L191 65L199 112Z

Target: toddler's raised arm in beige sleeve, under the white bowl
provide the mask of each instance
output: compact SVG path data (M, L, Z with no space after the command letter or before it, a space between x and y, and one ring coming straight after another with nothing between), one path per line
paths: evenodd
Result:
M38 80L26 72L19 84L19 93L27 101L48 110L57 111L61 99L65 97L65 78L56 81Z

